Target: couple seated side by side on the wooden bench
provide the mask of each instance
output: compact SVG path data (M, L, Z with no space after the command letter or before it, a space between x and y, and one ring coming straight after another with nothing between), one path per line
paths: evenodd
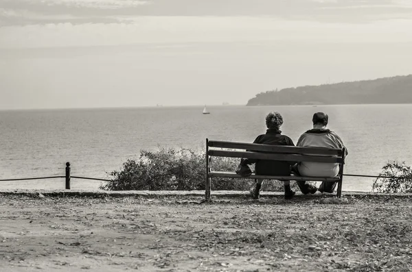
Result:
M341 138L334 132L326 128L328 125L328 114L317 112L312 118L313 128L305 132L297 140L297 147L328 147L342 149L344 147ZM286 135L282 135L279 130L283 124L282 115L279 112L270 112L266 116L266 134L259 135L253 143L264 145L290 145L293 140ZM347 154L347 151L346 151ZM255 164L255 172L258 175L290 175L293 171L297 175L306 177L335 177L339 173L339 164L321 163L321 162L286 162L275 160L253 160L242 159L236 173L240 175L250 175L249 164ZM246 171L245 171L246 170ZM259 198L260 188L263 180L256 180L255 188L251 189L253 198ZM323 193L333 193L336 182L322 182L319 188L306 184L306 182L297 182L299 189L305 195L316 193L317 190ZM284 181L285 198L291 199L295 192L290 189L290 181Z

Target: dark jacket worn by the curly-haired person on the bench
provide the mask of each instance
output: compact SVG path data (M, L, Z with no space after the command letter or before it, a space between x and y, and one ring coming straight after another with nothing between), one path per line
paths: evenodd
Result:
M267 129L266 134L259 135L253 141L255 144L263 145L289 145L295 146L293 140L278 129ZM290 165L295 162L286 162L282 160L251 160L248 164L255 163L255 172L257 175L290 175Z

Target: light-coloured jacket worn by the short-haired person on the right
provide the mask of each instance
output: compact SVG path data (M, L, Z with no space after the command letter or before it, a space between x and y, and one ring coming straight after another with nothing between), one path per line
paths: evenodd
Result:
M328 147L342 149L343 141L335 132L329 129L310 129L299 137L297 147ZM347 155L347 150L346 154ZM336 177L339 174L339 164L325 162L301 162L298 171L306 177Z

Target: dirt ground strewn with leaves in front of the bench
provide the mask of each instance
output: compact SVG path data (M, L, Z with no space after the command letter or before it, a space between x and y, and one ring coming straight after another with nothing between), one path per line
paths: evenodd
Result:
M412 269L407 197L190 200L0 195L0 271Z

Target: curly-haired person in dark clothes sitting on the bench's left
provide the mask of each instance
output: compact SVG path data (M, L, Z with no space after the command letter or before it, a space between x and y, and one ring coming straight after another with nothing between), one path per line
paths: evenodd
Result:
M253 143L264 145L289 145L295 146L293 140L286 135L282 135L280 127L284 123L283 117L279 112L269 112L266 115L266 134L261 134L255 138ZM290 175L290 166L295 162L286 162L282 160L255 160L255 159L242 159L240 161L240 168L244 166L249 169L249 164L255 164L255 173L257 175ZM240 168L236 173L241 173ZM245 173L245 172L244 172ZM245 173L245 176L251 175ZM260 188L264 180L256 180L255 187L251 189L251 195L254 199L258 199L260 195ZM290 181L284 181L285 198L290 199L295 195L295 192L290 188Z

